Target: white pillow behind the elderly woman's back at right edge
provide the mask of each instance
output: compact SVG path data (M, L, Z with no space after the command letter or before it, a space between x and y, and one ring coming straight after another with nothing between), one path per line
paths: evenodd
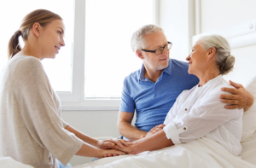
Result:
M243 113L241 143L249 141L256 131L256 77L252 78L245 88L254 96L254 103Z

